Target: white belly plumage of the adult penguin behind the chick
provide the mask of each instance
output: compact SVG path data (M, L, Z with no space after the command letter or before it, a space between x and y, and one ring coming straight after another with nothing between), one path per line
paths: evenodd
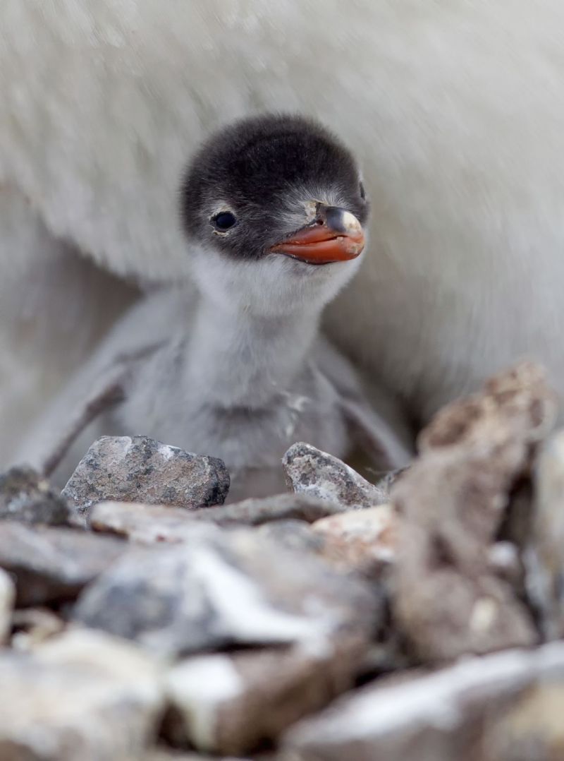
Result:
M370 256L328 328L408 416L524 354L564 391L560 0L4 0L0 27L0 462L107 326L81 254L188 278L179 167L261 110L363 164Z

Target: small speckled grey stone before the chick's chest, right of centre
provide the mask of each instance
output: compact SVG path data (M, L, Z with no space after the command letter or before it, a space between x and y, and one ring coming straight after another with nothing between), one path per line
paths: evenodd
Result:
M388 499L355 470L331 454L298 442L284 454L282 467L288 488L344 505L350 509L372 508Z

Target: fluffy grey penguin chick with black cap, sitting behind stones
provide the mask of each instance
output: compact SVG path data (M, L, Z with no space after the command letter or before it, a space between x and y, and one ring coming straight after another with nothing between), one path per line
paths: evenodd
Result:
M128 355L121 401L90 441L142 433L221 457L231 498L283 490L280 458L295 441L345 457L361 431L380 467L404 465L407 448L319 333L366 243L369 205L347 148L301 116L243 119L198 151L180 208L193 284L136 305L49 425Z

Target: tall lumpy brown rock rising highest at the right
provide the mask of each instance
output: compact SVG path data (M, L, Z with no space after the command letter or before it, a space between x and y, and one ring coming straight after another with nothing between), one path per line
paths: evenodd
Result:
M417 658L536 641L512 584L492 571L490 548L509 492L555 415L543 372L523 363L445 407L423 431L420 457L392 489L401 515L392 607Z

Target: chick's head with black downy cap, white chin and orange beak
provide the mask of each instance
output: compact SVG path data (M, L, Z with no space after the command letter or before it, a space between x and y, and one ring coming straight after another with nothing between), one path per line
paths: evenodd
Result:
M246 309L323 305L360 263L368 203L356 161L303 116L255 116L212 135L181 203L198 285Z

